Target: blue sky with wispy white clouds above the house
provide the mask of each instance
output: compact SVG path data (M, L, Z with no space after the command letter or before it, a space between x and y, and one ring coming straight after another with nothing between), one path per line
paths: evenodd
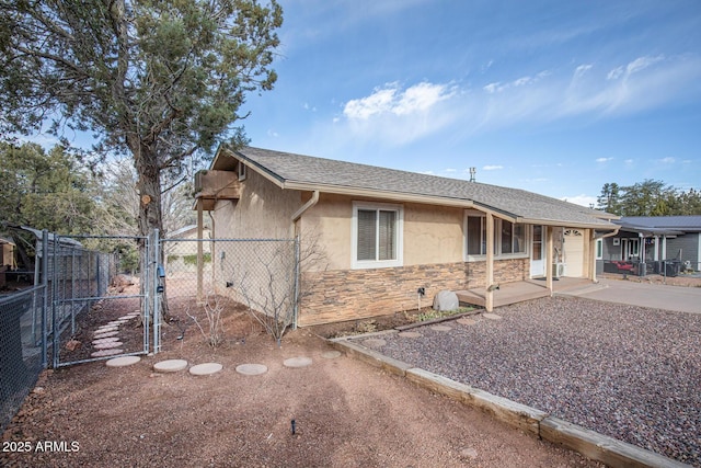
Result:
M588 205L701 189L698 0L280 0L253 146Z

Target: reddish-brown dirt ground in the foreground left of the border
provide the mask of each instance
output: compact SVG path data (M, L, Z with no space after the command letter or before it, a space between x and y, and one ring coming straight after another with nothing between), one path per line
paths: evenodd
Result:
M134 309L107 304L94 311L103 322ZM331 347L320 330L292 331L278 347L245 312L229 309L226 342L215 350L192 319L172 309L180 326L165 328L157 356L123 368L96 362L45 372L3 434L0 466L600 466L401 377L344 355L325 358ZM125 341L140 339L138 327L124 333ZM297 356L311 357L311 366L283 365ZM168 358L218 362L223 370L152 372ZM240 364L268 370L244 376L235 372Z

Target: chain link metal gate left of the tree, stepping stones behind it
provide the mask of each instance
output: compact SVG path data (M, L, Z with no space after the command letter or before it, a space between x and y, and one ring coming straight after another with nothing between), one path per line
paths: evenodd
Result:
M97 242L130 244L139 259L87 247ZM54 368L149 352L152 244L152 237L54 236L44 329Z

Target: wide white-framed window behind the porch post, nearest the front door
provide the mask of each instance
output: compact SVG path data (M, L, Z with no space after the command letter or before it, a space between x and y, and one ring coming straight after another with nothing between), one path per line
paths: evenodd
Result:
M467 217L468 256L486 255L486 218ZM504 219L494 219L494 254L496 256L521 256L526 253L526 226Z

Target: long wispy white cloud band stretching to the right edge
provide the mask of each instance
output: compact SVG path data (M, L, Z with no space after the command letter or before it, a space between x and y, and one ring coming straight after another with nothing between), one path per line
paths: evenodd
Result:
M471 85L387 83L347 101L334 118L333 132L319 128L319 135L333 146L345 141L393 147L438 133L459 141L505 127L582 116L612 118L701 96L701 55L586 62L516 77L491 75L485 83Z

